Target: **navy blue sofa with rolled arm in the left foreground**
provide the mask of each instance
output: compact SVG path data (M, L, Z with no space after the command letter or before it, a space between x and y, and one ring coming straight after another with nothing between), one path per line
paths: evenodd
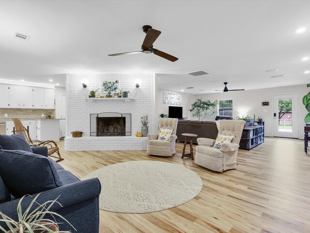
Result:
M0 211L15 220L17 219L16 206L20 200L20 196L22 195L22 193L19 192L20 190L18 190L18 187L21 187L22 189L23 184L27 183L27 185L24 186L26 188L29 188L30 186L31 188L31 185L34 185L33 190L35 190L35 193L28 193L31 194L32 197L27 196L24 198L22 201L23 210L29 206L31 200L37 193L41 192L39 198L37 199L39 203L44 203L47 200L55 200L59 197L58 201L62 204L62 207L58 204L54 204L51 211L63 216L76 228L79 233L99 233L98 197L101 191L99 180L93 178L80 181L69 171L64 170L58 163L48 158L46 147L27 148L28 143L26 140L25 142L27 145L21 141L21 139L24 140L22 134L15 134L15 137L13 137L13 143L10 141L12 137L13 135L0 135ZM15 141L16 138L19 140L18 142ZM21 144L25 147L22 148L24 150L20 150ZM25 157L25 159L23 157ZM23 161L23 159L23 163L16 162ZM16 183L19 182L16 179L20 179L18 178L19 174L16 173L17 177L12 174L14 174L14 172L22 173L24 169L34 166L34 163L37 163L36 161L39 161L39 164L47 164L47 171L44 170L45 168L42 168L41 164L39 165L40 167L37 168L38 173L43 170L43 173L47 174L47 177L44 177L44 175L40 175L38 177L32 175L31 177L34 177L33 181L31 178L27 178L28 174L25 174L24 176L21 176L22 181L18 184L20 186L16 186ZM13 169L12 167L8 167L12 166L12 163L15 163ZM33 170L34 168L31 168L30 173ZM40 186L41 183L45 182L45 179L54 179L53 176L57 176L55 187L49 188ZM25 182L25 179L29 180ZM36 180L37 183L35 183ZM56 180L56 178L54 180ZM55 183L52 183L52 185L55 185ZM38 188L41 188L42 191L38 192ZM16 198L12 195L12 192L18 197ZM31 191L27 190L27 192ZM75 230L68 223L58 217L55 218L57 222L63 223L59 224L60 231L75 232ZM3 224L3 222L0 222L0 225L4 228L6 227L6 224Z

